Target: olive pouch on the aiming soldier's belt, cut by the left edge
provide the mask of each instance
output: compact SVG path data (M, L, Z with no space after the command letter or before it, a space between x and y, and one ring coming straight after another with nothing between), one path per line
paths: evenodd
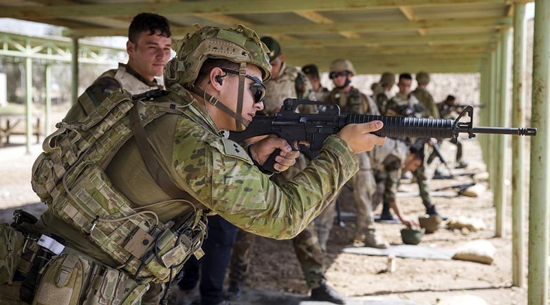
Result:
M25 237L8 223L0 223L0 285L12 284Z

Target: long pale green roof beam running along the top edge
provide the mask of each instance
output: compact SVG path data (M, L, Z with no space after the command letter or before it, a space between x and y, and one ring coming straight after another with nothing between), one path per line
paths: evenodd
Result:
M116 2L97 4L72 4L49 6L16 6L3 5L0 8L0 17L8 18L67 18L67 17L131 17L140 12L155 12L157 14L169 14L190 16L193 14L258 14L274 12L296 11L345 11L368 10L380 8L395 8L395 0L263 0L257 5L248 5L243 0L208 0L186 1L184 4L175 5L170 2ZM400 0L399 5L412 7L429 7L441 5L475 5L484 3L507 3L507 0ZM106 9L108 5L109 9Z

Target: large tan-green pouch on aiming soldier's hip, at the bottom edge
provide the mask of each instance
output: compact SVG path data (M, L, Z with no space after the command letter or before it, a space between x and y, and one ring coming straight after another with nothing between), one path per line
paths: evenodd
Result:
M76 253L56 256L40 271L32 305L78 305L88 262Z

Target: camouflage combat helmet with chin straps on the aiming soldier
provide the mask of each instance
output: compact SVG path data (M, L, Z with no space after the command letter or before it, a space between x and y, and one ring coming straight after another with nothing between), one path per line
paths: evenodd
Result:
M248 126L248 122L240 114L243 107L246 64L258 67L262 72L262 80L268 80L271 77L271 65L267 56L270 50L260 41L256 32L244 25L237 25L234 29L210 26L197 28L195 33L187 34L177 41L175 58L164 66L164 84L167 88L173 84L180 84L189 91L204 96L206 101L233 117L236 130L241 131L241 124ZM241 65L236 112L193 84L204 61L212 58L226 59Z

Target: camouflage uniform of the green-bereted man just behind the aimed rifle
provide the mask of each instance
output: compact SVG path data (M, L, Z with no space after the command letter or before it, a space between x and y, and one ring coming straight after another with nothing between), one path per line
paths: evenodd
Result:
M267 87L264 105L265 112L273 115L283 105L285 98L300 98L307 100L316 100L311 83L296 67L289 67L283 63L281 71L277 78L272 78L265 83ZM300 109L302 112L311 112L311 109ZM296 159L296 164L282 172L275 174L272 180L278 185L284 185L296 176L298 172L304 170L307 166L307 158L300 155ZM252 248L256 236L245 231L239 231L233 246L230 262L230 280L243 282L250 267L252 258ZM307 286L315 289L320 286L324 279L325 267L322 262L322 251L319 248L317 234L314 231L314 223L311 222L298 236L292 238L292 245L296 252L296 257L302 267Z

